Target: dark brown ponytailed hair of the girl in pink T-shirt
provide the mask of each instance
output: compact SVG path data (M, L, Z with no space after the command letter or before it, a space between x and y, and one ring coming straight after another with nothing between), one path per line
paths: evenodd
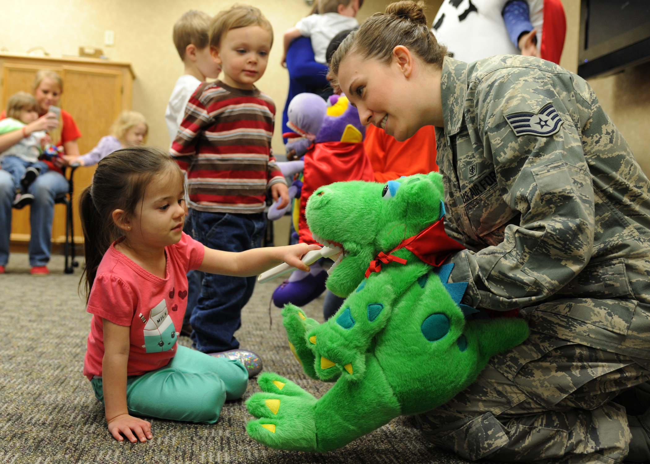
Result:
M113 211L122 209L125 217L131 216L136 205L144 199L151 179L164 172L170 172L183 183L183 173L174 159L153 147L122 148L99 161L92 185L86 187L79 198L86 253L86 267L79 287L83 283L86 303L104 253L122 235L122 230L113 222Z

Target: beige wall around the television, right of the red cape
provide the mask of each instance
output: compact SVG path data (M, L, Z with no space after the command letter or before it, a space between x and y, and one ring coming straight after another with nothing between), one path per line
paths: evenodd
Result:
M580 0L562 0L567 16L567 37L560 64L578 69ZM650 63L612 75L590 79L603 109L616 124L643 172L650 175Z

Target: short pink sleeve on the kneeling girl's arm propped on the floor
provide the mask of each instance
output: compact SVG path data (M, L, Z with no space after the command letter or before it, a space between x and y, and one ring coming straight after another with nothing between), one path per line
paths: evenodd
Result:
M131 287L114 274L98 274L90 290L86 311L118 326L131 326L138 298Z

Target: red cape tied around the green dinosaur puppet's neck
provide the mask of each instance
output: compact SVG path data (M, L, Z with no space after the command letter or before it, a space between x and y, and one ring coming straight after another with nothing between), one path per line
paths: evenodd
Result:
M424 261L424 263L436 267L444 263L450 254L465 250L464 246L448 237L445 232L445 221L443 218L440 218L419 234L402 240L388 254L380 251L377 257L370 261L370 265L365 273L366 278L373 272L380 272L382 270L382 263L388 264L395 261L395 263L406 264L406 259L392 254L393 251L400 250L400 248L406 248L406 250L411 251L411 253Z

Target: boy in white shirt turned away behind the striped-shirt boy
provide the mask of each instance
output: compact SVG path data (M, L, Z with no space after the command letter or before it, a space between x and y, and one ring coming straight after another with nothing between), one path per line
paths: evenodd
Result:
M187 101L194 90L206 77L216 79L221 72L221 67L210 57L210 20L210 15L205 12L189 10L174 24L174 45L183 60L185 72L176 81L164 114L172 142L183 121Z

